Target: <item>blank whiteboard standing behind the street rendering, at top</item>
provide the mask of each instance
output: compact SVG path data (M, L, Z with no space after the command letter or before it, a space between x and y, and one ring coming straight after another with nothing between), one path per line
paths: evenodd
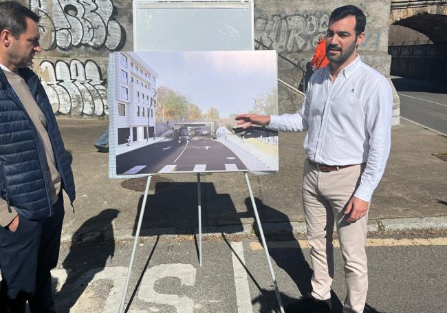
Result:
M253 1L133 1L133 50L254 50Z

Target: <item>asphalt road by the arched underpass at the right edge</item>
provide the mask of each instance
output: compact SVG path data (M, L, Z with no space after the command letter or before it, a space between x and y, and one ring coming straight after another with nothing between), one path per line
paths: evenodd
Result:
M405 78L393 78L400 98L402 118L447 135L447 90L435 84L417 84Z

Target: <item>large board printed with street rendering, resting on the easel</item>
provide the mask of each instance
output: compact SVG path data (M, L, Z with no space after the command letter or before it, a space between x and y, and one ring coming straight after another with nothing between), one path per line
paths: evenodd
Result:
M278 171L278 133L235 116L277 114L274 51L109 56L109 177Z

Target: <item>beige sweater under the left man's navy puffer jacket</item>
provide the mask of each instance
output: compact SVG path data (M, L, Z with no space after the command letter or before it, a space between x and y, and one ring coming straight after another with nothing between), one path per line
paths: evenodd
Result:
M50 193L54 204L57 202L58 195L61 191L61 176L56 169L53 148L46 130L47 120L45 119L45 115L43 114L41 108L37 105L36 100L34 100L30 88L26 85L25 80L23 80L23 78L21 78L18 74L8 71L3 66L1 67L3 68L3 72L6 74L6 78L8 78L8 83L10 83L12 89L14 89L15 93L23 103L23 107L25 107L25 110L30 116L34 127L36 127L39 140L43 143L43 147L45 147L47 170L50 171L52 180L52 184L50 185ZM17 211L13 206L11 206L11 211L12 213L8 212L8 204L6 204L5 200L0 198L0 226L7 226L10 222L12 222L12 219L17 216Z

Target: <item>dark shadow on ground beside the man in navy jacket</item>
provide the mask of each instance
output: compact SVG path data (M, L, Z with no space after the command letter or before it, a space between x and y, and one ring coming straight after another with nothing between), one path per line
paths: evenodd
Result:
M105 268L109 257L113 258L115 241L112 222L118 213L118 210L108 208L88 219L74 233L69 253L62 263L67 270L67 279L56 294L58 312L69 312L94 274Z

